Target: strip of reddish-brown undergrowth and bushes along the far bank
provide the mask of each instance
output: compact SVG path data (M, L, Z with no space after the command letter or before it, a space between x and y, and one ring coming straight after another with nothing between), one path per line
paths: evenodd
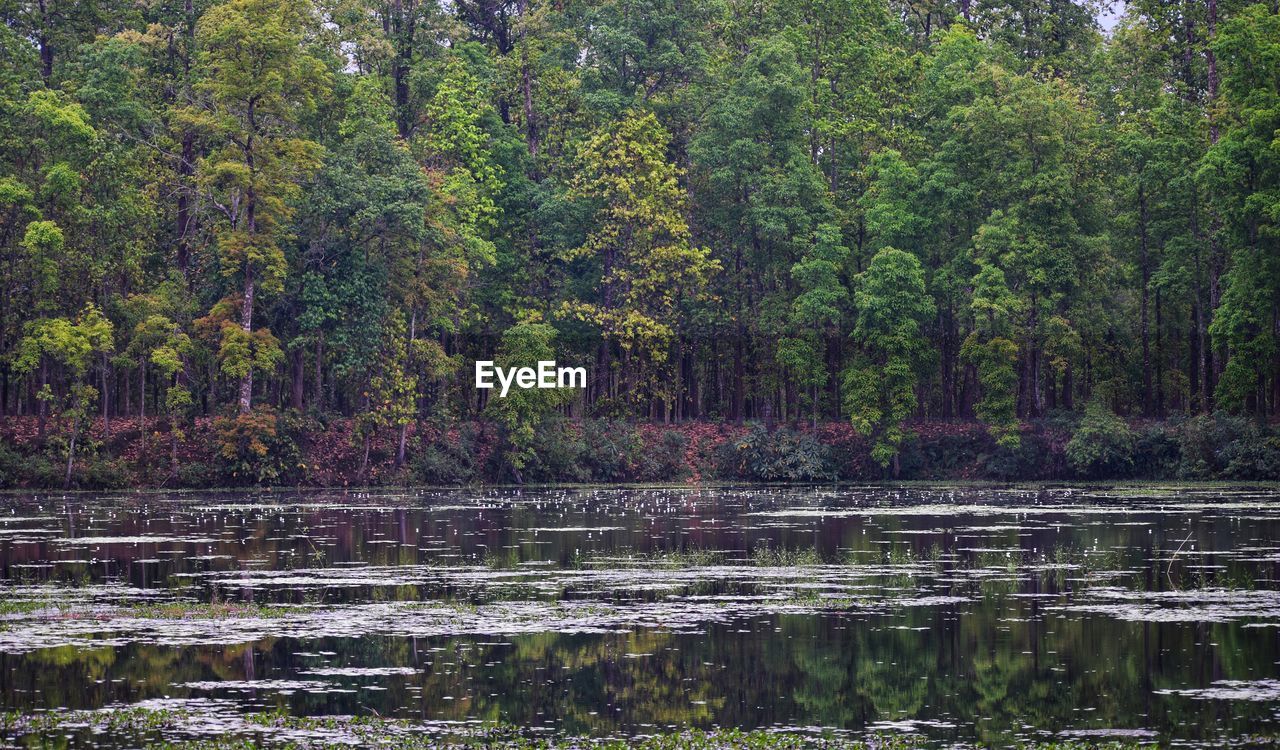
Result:
M232 426L228 426L230 424ZM742 425L554 417L538 425L516 463L494 422L431 425L362 435L353 419L282 412L261 434L200 417L101 419L87 430L67 480L64 425L40 438L36 417L0 420L0 489L146 488L573 488L838 486L920 483L989 485L1123 481L1277 481L1280 430L1228 415L1165 421L1079 415L1023 422L997 439L977 421L916 421L896 461L849 422Z

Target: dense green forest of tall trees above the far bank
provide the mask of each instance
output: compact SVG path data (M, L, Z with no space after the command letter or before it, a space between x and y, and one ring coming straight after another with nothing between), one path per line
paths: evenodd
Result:
M844 422L893 471L931 421L1265 424L1276 3L1105 10L0 0L6 442L70 484L211 425L269 480L289 430L365 476L483 424L521 480L548 420ZM540 358L588 388L474 388Z

